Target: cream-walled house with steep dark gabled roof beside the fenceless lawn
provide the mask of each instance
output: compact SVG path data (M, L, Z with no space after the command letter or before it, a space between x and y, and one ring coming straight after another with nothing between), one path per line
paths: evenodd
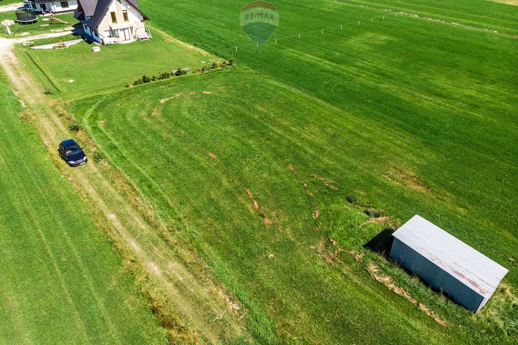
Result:
M137 0L78 0L74 17L79 20L84 33L103 44L128 43L151 38L149 18L138 6Z

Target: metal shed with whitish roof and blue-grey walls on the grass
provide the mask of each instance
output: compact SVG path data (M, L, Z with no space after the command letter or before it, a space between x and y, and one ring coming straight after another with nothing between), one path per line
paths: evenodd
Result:
M392 259L473 312L486 304L509 272L418 215L392 235Z

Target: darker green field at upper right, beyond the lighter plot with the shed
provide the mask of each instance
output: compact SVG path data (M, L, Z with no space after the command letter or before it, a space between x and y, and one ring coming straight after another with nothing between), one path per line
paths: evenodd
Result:
M211 0L199 10L188 3L175 3L183 14L175 26L167 20L166 2L152 5L143 0L142 6L149 8L155 25L214 51L250 41L239 26L239 2L221 6L220 0ZM448 22L454 18L512 34L518 29L513 20L518 7L471 0L386 2L389 9L445 21L437 22L394 16L379 10L383 7L377 0L296 5L281 0L275 5L280 24L272 39L386 17L279 40L277 45L269 42L259 50L251 44L221 54L261 73L261 78L293 86L354 114L358 123L379 125L382 132L424 145L433 155L418 155L413 163L391 157L393 165L411 163L428 184L447 190L448 198L466 209L465 217L480 228L518 237L518 216L512 211L518 187L516 179L509 179L516 175L518 161L518 70L513 68L518 66L518 40ZM221 21L214 22L214 17ZM269 100L255 101L266 105ZM506 175L507 184L499 183ZM470 237L482 241L477 233ZM484 239L500 251L499 244ZM512 270L509 275L518 281Z

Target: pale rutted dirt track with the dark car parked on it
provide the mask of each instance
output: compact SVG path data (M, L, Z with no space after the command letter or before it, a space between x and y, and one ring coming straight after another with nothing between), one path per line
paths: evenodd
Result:
M137 194L128 193L130 184L114 183L102 164L91 161L80 168L70 169L57 156L56 144L70 137L56 110L63 108L55 98L44 94L31 69L17 59L13 46L27 39L66 34L69 32L0 38L0 66L24 104L24 117L36 127L61 173L74 183L99 228L112 239L140 288L149 294L159 317L172 318L178 328L187 329L182 336L203 343L221 343L242 335L246 332L242 321L244 312L236 310L235 301L228 299L228 293L209 277L199 273L202 270L192 273L185 262L196 264L196 258L174 246L174 238L149 207L136 205L135 201L128 199ZM138 197L136 199L140 201ZM166 320L165 323L170 324L171 321ZM178 329L171 332L176 333Z

